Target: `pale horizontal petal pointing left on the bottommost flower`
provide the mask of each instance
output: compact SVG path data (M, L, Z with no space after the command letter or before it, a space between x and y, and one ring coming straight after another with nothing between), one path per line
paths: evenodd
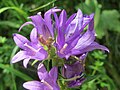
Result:
M39 81L29 81L23 84L23 87L29 90L43 90L42 83Z

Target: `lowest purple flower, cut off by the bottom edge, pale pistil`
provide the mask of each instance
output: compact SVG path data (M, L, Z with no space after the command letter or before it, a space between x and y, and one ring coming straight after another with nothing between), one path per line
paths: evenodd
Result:
M29 81L23 87L29 90L60 90L57 85L57 67L53 67L49 73L43 64L38 66L38 76L40 81Z

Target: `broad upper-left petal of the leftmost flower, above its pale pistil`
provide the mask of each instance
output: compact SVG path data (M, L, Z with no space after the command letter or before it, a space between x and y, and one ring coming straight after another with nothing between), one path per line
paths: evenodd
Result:
M24 37L20 34L13 34L13 39L14 39L15 43L17 44L17 46L19 46L22 49L25 49L25 46L24 46L25 43L30 42L26 37Z

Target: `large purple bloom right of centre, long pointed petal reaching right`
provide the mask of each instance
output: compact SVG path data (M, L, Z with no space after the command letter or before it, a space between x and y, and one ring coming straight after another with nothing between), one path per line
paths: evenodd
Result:
M94 14L84 16L81 10L78 10L67 20L66 11L63 10L59 18L54 16L58 33L55 46L59 57L68 59L71 55L80 55L94 49L109 51L94 41ZM86 26L88 29L85 32Z

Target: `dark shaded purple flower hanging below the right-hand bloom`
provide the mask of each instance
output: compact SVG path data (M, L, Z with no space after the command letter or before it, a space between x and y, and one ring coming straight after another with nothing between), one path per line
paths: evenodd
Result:
M63 67L63 76L68 79L68 87L80 86L85 78L82 76L84 71L84 64L79 61L76 61L73 64L65 64Z

